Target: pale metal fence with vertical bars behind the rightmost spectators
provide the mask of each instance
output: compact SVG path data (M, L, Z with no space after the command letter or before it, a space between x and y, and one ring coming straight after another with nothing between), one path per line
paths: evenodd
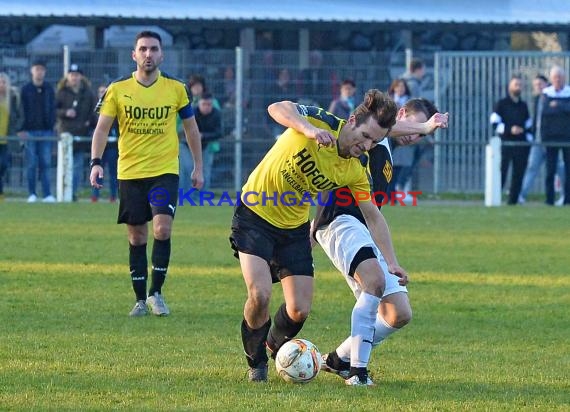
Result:
M524 80L523 100L532 106L531 83L548 77L553 65L568 73L569 53L441 52L435 54L435 101L450 113L448 130L436 134L434 192L481 193L485 183L485 145L492 136L489 115L507 95L509 79ZM532 110L532 108L531 108ZM570 135L569 135L570 141ZM542 175L534 190L544 187Z

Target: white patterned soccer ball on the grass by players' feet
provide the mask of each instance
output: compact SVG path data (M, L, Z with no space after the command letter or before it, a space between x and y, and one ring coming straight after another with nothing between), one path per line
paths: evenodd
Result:
M307 383L321 369L321 354L317 347L306 339L286 342L275 357L277 373L291 383Z

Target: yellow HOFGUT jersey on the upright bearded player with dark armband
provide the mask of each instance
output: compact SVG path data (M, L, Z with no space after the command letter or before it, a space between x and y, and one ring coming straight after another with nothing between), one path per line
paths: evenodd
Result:
M119 179L178 174L176 117L194 114L183 82L160 73L143 86L133 73L109 85L97 110L119 122Z

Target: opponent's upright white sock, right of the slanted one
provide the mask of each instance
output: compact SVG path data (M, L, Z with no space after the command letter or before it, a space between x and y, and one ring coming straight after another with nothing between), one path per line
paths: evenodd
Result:
M350 366L365 368L370 360L380 298L361 293L352 309Z

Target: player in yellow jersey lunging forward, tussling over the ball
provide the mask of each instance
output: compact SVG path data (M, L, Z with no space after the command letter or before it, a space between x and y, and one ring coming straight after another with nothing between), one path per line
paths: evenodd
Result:
M347 186L370 194L366 152L396 123L395 103L369 90L348 121L323 109L292 102L269 106L288 129L245 183L234 212L230 242L247 287L241 325L250 381L267 380L268 357L301 330L313 297L313 258L309 237L310 199ZM431 123L396 124L392 136L427 134ZM359 202L374 242L395 275L405 276L394 254L386 221L370 198ZM281 282L285 303L273 326L269 316L272 282Z

